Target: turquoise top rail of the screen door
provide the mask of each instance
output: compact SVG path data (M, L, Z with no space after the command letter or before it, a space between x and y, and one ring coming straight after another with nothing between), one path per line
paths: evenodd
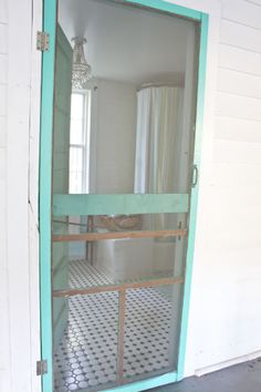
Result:
M133 4L139 4L142 7L148 7L148 8L154 8L156 10L170 12L176 16L188 18L188 19L194 19L198 21L201 20L201 12L192 10L187 7L173 4L164 0L124 0L124 1Z

